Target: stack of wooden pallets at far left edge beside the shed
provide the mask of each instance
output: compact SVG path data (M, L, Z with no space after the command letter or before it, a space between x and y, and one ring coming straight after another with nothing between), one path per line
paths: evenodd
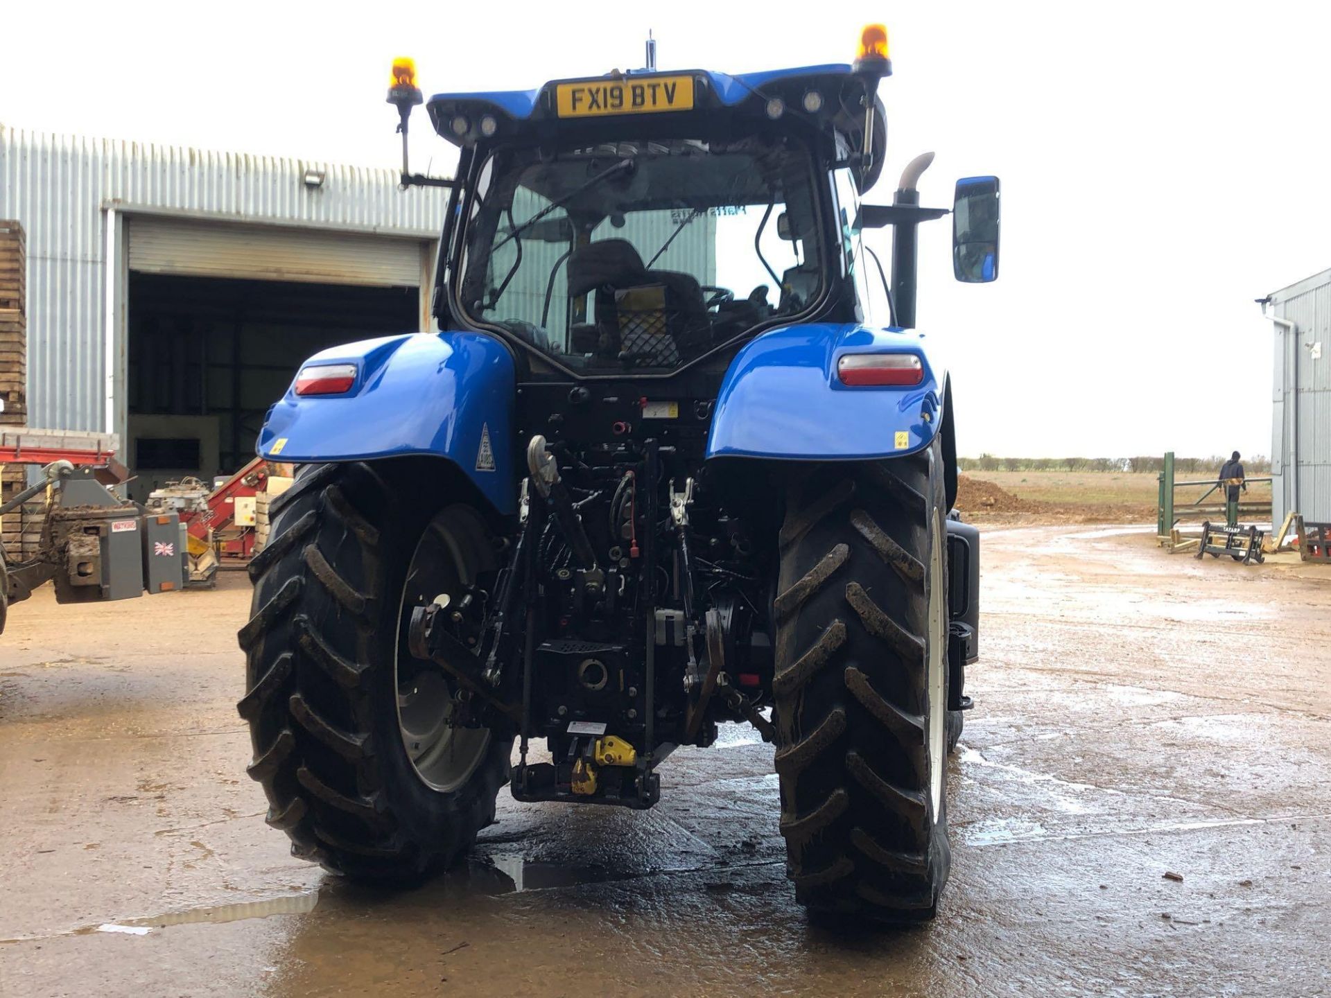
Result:
M0 427L28 422L27 251L23 226L0 220ZM0 472L0 502L20 492L27 470L13 464ZM23 518L9 514L0 524L0 543L11 558L23 548Z

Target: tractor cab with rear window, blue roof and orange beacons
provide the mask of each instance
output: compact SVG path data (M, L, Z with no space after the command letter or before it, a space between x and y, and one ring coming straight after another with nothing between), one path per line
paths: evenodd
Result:
M913 306L913 228L945 212L909 202L913 189L889 214L860 208L882 169L890 71L870 28L853 65L434 96L430 121L461 149L441 327L498 334L524 374L567 379L660 378L708 358L724 370L781 325L913 325L860 240L866 225L910 230L894 255ZM389 100L405 132L421 101L405 61Z

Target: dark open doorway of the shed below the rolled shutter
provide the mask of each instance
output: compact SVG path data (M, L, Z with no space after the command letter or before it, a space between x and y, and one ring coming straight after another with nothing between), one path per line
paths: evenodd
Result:
M418 287L129 274L125 454L142 502L254 456L264 414L325 347L419 327Z

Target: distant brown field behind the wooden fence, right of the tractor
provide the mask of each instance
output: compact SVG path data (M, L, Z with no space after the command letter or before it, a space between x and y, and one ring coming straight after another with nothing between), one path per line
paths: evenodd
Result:
M1199 480L1203 475L1179 475ZM994 490L993 486L998 488ZM1205 487L1177 490L1175 502L1198 499ZM1131 471L964 471L957 506L977 520L1095 523L1155 518L1154 472ZM1271 498L1270 484L1254 484L1244 499ZM1219 502L1213 494L1211 502Z

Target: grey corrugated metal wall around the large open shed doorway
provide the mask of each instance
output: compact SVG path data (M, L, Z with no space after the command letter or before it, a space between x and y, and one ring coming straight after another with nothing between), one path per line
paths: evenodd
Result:
M325 172L321 188L306 169ZM401 192L391 169L0 125L0 218L28 234L29 423L105 428L106 208L431 238L447 193Z

